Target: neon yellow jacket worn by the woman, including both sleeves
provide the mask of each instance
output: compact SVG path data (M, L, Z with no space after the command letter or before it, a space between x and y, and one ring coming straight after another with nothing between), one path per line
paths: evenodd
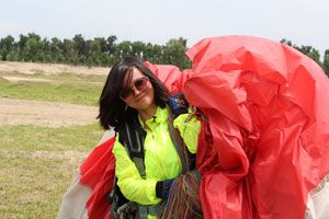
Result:
M190 152L195 153L201 124L195 117L186 123L188 116L189 114L181 114L174 119L173 126L179 129ZM113 153L116 160L117 185L127 199L140 205L160 203L161 199L156 196L156 183L175 177L182 171L180 158L168 131L167 118L168 110L158 107L156 115L146 120L149 129L145 129L145 180L140 177L135 163L116 137Z

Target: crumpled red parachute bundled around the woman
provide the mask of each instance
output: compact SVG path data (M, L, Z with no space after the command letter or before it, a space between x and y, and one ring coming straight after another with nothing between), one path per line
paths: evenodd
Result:
M204 218L329 218L329 81L321 68L251 36L205 38L186 55L192 70L146 65L207 118L197 148ZM89 218L109 217L113 140L80 166L80 184L91 188Z

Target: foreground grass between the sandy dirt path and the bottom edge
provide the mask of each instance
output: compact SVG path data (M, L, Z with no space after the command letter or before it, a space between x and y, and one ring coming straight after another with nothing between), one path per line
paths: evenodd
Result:
M98 124L0 126L0 218L56 218L75 171L102 135Z

